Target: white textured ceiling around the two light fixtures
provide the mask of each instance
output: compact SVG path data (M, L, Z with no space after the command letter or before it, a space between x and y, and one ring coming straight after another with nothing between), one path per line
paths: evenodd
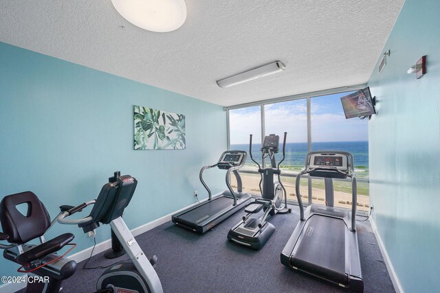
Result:
M0 41L231 106L367 82L403 3L186 0L186 23L155 33L110 0L0 0ZM215 83L274 60L285 71Z

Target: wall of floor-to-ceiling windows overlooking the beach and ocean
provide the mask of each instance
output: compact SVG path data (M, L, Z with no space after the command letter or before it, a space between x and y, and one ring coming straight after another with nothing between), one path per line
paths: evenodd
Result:
M345 119L340 97L351 92L302 97L283 102L261 103L228 110L231 150L249 151L249 134L253 134L252 155L261 164L261 134L277 134L282 146L287 132L285 161L281 165L287 199L296 200L296 174L305 165L310 150L345 150L355 159L358 178L358 210L369 211L368 119ZM282 151L276 159L282 159ZM266 162L266 165L269 162ZM256 164L248 161L241 171L244 191L259 194ZM333 180L335 205L351 206L351 182ZM321 178L305 176L300 183L303 202L324 204L325 187Z

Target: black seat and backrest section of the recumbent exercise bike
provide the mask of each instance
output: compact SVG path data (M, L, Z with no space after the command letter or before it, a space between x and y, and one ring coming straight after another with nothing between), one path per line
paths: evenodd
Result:
M10 244L0 244L4 249L3 257L21 267L18 272L28 273L20 277L9 277L10 282L25 283L26 293L58 293L63 280L68 279L76 270L76 262L65 257L76 244L72 244L74 235L64 233L45 240L44 234L55 224L51 222L43 202L31 191L5 196L0 202L0 221L3 232L0 240ZM40 244L30 244L39 239ZM58 255L64 246L72 246L67 253Z

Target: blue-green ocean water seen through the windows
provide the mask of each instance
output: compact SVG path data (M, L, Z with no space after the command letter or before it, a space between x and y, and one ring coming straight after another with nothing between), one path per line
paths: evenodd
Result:
M282 147L282 143L280 143ZM261 164L261 144L252 143L252 156L254 160ZM231 150L245 150L249 153L249 144L232 144ZM355 161L356 175L362 177L369 176L369 142L368 141L332 141L332 142L316 142L311 143L311 150L344 150L351 152ZM285 161L281 163L282 169L290 169L294 172L304 169L305 156L307 154L307 143L286 143ZM275 155L278 163L283 158L283 150L280 148L278 154ZM268 163L269 161L267 161ZM254 166L250 156L246 160L245 165Z

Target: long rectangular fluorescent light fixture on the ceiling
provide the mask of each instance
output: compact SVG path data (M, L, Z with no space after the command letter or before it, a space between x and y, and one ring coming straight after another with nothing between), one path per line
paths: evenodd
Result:
M229 86L234 86L235 84L241 84L250 80L256 80L257 78L263 78L263 76L266 75L281 72L285 68L286 66L283 62L275 61L261 67L256 67L254 69L232 75L229 78L223 78L223 80L217 80L217 85L225 89Z

